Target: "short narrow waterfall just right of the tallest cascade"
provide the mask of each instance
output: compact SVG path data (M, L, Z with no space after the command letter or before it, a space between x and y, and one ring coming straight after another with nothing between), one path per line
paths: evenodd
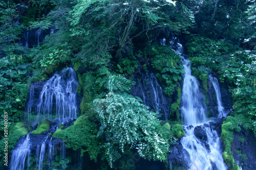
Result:
M216 78L212 78L211 75L209 76L209 80L212 82L212 85L214 86L214 89L215 89L217 103L218 103L218 112L219 112L218 117L221 118L223 116L226 116L226 114L221 102L221 92L220 92L219 82Z

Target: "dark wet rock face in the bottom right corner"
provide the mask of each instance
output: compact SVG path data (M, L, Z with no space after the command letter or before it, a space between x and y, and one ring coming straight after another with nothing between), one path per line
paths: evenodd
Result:
M240 132L234 132L231 152L235 162L242 169L256 169L256 137L252 131L242 128Z

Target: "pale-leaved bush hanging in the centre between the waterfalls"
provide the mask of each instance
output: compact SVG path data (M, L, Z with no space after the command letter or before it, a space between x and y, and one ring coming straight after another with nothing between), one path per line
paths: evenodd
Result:
M111 167L120 158L124 146L135 148L145 159L165 160L171 136L164 133L156 113L148 111L130 91L131 82L120 75L109 75L109 93L93 101L93 111L101 127L97 136L106 135L103 149ZM115 92L117 93L115 93ZM121 152L121 153L120 153Z

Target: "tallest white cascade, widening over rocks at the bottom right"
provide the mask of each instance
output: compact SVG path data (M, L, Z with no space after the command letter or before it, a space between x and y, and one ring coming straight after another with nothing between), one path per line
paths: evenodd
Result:
M199 90L199 82L191 75L190 61L183 55L183 47L177 38L173 38L170 44L175 53L180 55L185 71L181 94L181 114L186 136L181 139L181 144L189 153L189 169L226 169L221 154L220 138L217 132L211 130L207 124L204 98ZM205 132L201 140L195 135L196 128Z

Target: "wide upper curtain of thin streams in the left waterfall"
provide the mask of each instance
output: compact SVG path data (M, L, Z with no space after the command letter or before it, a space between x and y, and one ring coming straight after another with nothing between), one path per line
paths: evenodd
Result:
M35 90L31 85L27 102L28 121L37 123L45 119L58 119L61 123L70 118L77 118L77 85L78 81L73 68L66 68L60 74L54 74L42 87L39 101L34 109L32 107L36 102ZM32 110L36 115L35 120L30 119Z

